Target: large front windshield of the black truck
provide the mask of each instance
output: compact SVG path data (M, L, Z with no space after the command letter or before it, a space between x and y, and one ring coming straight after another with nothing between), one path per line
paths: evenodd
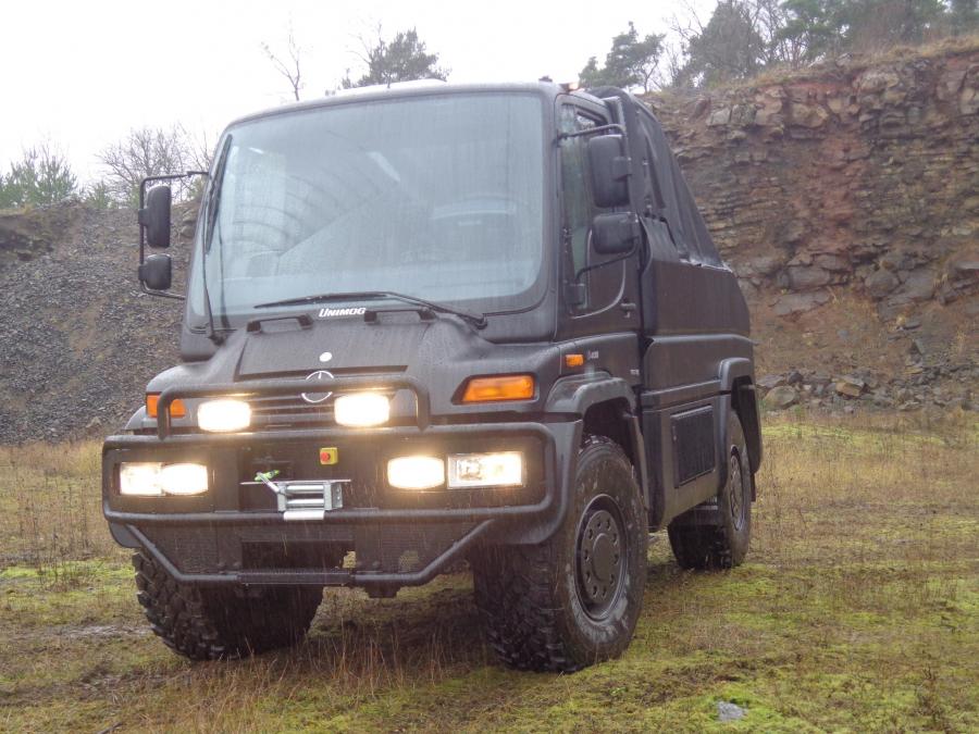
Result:
M453 94L234 126L203 256L214 315L379 290L524 306L542 270L542 107L529 94Z

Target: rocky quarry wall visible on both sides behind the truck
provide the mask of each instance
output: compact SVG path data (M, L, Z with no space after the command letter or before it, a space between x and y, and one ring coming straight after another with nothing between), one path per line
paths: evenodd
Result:
M975 406L979 43L649 101L748 298L770 408ZM176 362L181 304L139 291L136 241L132 211L0 212L0 444L104 435Z

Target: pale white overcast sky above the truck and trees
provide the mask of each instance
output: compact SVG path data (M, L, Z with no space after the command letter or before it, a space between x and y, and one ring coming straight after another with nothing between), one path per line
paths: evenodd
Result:
M711 0L693 7L711 8ZM686 3L652 0L26 0L0 24L0 170L50 141L76 173L100 175L96 154L133 127L183 124L216 134L232 119L290 99L261 43L285 53L289 23L302 48L302 99L362 71L359 37L417 27L450 82L574 80L605 58L633 21L664 33ZM709 14L709 13L708 13Z

